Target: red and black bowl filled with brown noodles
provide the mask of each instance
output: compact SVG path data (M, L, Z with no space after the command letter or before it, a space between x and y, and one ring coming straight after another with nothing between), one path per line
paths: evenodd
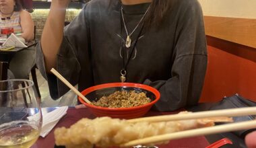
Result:
M115 94L116 93L116 94ZM119 94L117 94L119 93ZM150 87L148 85L143 85L139 83L105 83L101 85L95 85L92 87L89 87L88 89L85 89L82 91L82 94L90 100L90 102L93 102L92 104L88 104L82 100L82 98L79 98L79 101L86 105L90 111L96 115L96 116L110 116L112 118L137 118L140 116L143 116L150 110L150 108L160 99L160 93L157 89ZM123 100L123 95L129 96L132 95L132 101L128 100L127 106L119 106L121 102L125 102ZM104 106L104 102L101 102L102 106L97 106L95 102L97 102L100 98L106 98L108 96L116 96L119 95L119 98L121 99L115 99L117 102L114 102L113 104L119 104L117 105L117 108L109 106ZM138 98L135 98L134 96L138 95L139 98L148 98L148 102L144 102L141 100L138 100ZM145 97L143 97L145 95ZM142 96L142 97L141 97ZM106 102L110 102L110 100L104 100ZM106 104L105 102L105 104ZM139 106L133 106L134 104L137 104L137 102L142 102ZM94 105L95 104L95 105Z

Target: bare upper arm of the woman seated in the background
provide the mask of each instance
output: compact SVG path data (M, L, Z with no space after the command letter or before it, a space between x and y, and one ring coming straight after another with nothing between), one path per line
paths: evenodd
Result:
M26 10L20 12L20 25L22 26L22 38L27 42L34 38L34 22L30 13Z

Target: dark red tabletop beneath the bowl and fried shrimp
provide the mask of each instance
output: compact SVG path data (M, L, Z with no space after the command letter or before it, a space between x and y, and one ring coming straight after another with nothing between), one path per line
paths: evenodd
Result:
M157 115L162 115L162 114L174 114L177 112L153 112L150 111L146 116L157 116ZM81 118L95 118L95 116L88 110L88 108L84 109L75 109L75 108L69 108L67 110L67 114L59 120L55 128L65 126L69 127L71 124L74 124L77 122L77 120ZM40 137L38 141L32 146L32 148L42 148L42 147L55 147L55 139L54 139L54 134L53 131L49 133L46 137L42 138ZM207 145L210 145L208 141L205 139L205 137L192 137L192 138L185 138L185 139L179 139L179 140L173 140L168 143L168 145L157 145L159 148L170 148L170 147L207 147Z

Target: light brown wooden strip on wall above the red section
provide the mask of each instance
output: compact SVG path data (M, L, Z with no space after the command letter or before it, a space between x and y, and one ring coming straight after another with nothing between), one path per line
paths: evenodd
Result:
M204 16L205 34L256 48L256 20Z

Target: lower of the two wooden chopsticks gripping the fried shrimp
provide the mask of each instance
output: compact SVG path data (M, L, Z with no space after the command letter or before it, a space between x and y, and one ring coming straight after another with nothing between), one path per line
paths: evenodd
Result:
M131 147L133 145L145 145L145 144L149 144L149 143L159 143L162 141L169 141L169 140L174 140L174 139L195 137L195 136L201 136L201 135L211 135L211 134L216 134L216 133L225 133L225 132L230 132L230 131L239 131L239 130L245 130L245 129L251 129L251 128L256 128L256 120L229 123L229 124L224 124L224 125L211 126L211 127L206 127L206 128L197 128L197 129L188 130L188 131L181 131L181 132L177 132L177 133L157 135L157 136L153 136L153 137L147 137L147 138L143 138L143 139L129 141L128 143L125 143L120 146L121 147Z

